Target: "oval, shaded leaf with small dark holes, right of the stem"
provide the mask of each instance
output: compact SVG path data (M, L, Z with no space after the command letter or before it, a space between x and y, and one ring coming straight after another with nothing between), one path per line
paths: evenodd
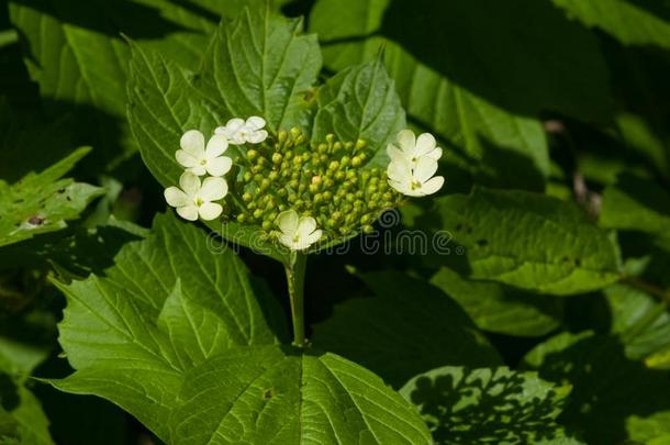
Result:
M418 225L450 236L456 248L434 256L471 279L567 296L619 278L607 235L570 202L523 191L476 189L436 201L438 218ZM458 253L464 255L459 256Z

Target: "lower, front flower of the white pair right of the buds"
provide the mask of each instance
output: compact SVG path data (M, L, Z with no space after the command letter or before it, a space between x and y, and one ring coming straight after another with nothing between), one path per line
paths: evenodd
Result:
M425 197L439 190L445 183L445 178L442 176L433 178L435 171L437 171L437 160L426 156L420 157L414 168L404 159L393 160L387 168L389 185L409 197Z

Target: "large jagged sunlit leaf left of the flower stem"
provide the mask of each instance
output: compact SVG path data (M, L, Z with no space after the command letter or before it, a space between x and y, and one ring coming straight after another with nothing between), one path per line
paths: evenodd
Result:
M283 338L277 302L255 292L231 249L209 247L200 229L159 215L152 235L126 244L103 276L57 282L68 300L59 341L77 369L63 385L76 390L91 379L125 382L165 400L147 410L152 401L129 396L129 389L116 392L108 385L109 392L96 392L141 410L138 419L160 432L185 369L232 345Z

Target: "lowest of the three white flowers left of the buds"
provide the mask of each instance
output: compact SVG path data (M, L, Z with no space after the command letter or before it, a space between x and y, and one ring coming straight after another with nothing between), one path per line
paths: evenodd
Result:
M223 208L212 201L223 199L228 192L228 185L223 178L209 177L200 183L200 178L191 171L185 171L179 178L179 187L165 189L165 200L177 208L177 213L185 220L204 221L217 218Z

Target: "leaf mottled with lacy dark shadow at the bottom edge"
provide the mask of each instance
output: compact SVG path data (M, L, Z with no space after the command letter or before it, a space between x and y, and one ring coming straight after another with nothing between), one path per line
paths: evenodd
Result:
M577 444L556 422L569 392L537 372L451 366L420 374L400 390L437 444Z

